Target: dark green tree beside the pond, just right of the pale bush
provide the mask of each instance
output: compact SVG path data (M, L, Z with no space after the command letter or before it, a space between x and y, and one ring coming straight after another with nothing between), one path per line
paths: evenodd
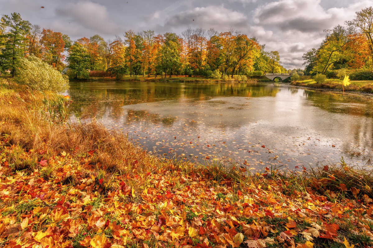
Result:
M89 77L90 58L87 50L78 42L75 42L69 49L69 56L66 59L69 62L70 75L75 79L78 77Z

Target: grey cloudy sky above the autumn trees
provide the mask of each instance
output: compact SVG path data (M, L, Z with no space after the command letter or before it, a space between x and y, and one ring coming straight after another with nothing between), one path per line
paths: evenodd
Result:
M277 50L285 68L303 68L302 55L318 47L324 29L343 25L373 0L0 0L13 12L72 40L96 33L105 39L126 30L180 34L188 28L234 28ZM43 6L44 8L41 8Z

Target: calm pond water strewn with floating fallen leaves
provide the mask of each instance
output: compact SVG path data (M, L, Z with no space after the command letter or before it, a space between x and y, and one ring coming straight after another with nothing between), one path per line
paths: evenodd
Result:
M68 94L72 119L95 116L159 157L232 159L261 170L341 156L367 165L372 155L371 96L272 83L145 82L71 83Z

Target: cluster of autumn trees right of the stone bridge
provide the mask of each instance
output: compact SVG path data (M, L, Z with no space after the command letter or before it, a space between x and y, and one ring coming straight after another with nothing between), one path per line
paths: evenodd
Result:
M355 18L324 30L325 39L318 48L304 55L305 74L323 74L329 78L346 74L372 72L373 58L373 8L355 12Z

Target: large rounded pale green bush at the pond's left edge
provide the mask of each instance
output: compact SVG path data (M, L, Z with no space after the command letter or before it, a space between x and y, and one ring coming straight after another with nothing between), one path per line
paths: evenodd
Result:
M69 88L67 75L62 75L51 65L32 55L27 58L21 58L15 80L18 84L24 84L33 90L60 92Z

